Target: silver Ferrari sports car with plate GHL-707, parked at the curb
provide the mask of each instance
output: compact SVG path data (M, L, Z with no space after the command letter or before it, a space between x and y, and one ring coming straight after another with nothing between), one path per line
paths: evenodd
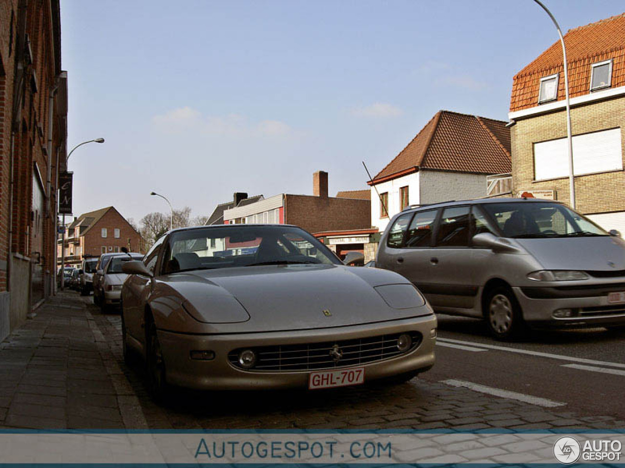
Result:
M301 228L170 231L127 261L124 355L154 396L403 381L434 364L436 318L401 275L345 266Z

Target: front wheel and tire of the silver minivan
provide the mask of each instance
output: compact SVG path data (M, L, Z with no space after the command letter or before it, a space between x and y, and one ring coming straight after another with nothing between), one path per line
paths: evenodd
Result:
M526 331L521 306L507 286L497 286L489 291L484 305L484 319L493 338L509 341Z

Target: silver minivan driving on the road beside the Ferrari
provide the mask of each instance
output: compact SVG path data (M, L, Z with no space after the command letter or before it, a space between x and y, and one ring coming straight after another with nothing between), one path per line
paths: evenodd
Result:
M625 242L552 200L406 208L376 266L408 278L439 313L486 319L498 339L526 324L625 326Z

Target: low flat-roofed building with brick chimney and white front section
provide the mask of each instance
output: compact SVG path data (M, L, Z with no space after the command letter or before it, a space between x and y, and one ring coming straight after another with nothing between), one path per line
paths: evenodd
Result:
M224 223L292 224L308 232L369 228L367 198L328 197L327 172L312 177L312 195L280 193L223 212Z

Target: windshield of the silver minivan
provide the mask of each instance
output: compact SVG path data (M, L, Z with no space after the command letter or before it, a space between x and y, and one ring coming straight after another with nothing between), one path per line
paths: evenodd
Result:
M546 238L609 235L588 218L560 203L486 203L480 207L491 215L504 237Z

